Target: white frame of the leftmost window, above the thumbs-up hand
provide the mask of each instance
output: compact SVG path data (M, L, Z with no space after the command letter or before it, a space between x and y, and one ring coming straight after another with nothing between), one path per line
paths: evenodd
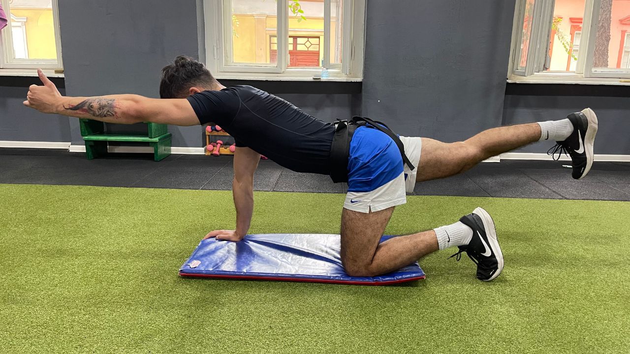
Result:
M0 33L0 76L4 75L37 75L36 69L49 69L57 72L51 76L61 76L63 61L61 57L61 37L59 34L59 6L57 0L52 0L53 27L55 30L55 44L57 47L57 59L14 59L13 35L11 35L11 8L9 0L0 0L9 23ZM13 16L14 17L14 16Z

